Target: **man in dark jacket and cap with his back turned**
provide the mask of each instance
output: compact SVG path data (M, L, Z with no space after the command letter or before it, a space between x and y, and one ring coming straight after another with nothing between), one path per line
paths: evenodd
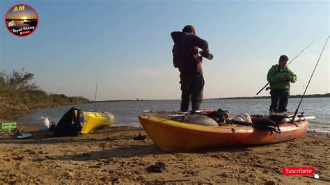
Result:
M206 40L199 38L194 26L187 25L181 31L171 33L174 41L173 64L180 71L181 108L187 112L191 98L191 109L201 110L203 102L203 69L202 58L198 55L198 47L208 54L209 45Z

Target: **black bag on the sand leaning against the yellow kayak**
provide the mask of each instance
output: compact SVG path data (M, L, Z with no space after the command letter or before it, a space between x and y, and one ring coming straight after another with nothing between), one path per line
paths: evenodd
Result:
M84 122L84 115L79 108L70 108L54 129L54 136L79 136L81 121Z

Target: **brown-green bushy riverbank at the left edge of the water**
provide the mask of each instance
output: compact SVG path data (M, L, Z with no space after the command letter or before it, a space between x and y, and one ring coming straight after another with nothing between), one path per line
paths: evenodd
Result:
M84 104L84 97L48 94L33 82L34 74L13 71L0 72L0 120L13 120L35 108Z

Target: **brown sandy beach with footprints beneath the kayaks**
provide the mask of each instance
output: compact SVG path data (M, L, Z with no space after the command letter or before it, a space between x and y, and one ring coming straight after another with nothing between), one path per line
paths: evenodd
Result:
M15 134L0 135L1 183L330 183L330 135L313 131L275 145L167 153L143 130L146 139L134 140L139 130L130 127L61 138L38 131L35 125L19 125L19 129L33 136L19 140ZM285 166L313 166L320 179L285 176L281 172Z

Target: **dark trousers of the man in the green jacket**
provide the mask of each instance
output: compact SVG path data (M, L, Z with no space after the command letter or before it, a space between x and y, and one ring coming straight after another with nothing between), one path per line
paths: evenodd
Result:
M272 89L270 91L272 97L272 104L270 105L269 111L273 110L275 113L283 113L288 111L290 90L287 89Z

